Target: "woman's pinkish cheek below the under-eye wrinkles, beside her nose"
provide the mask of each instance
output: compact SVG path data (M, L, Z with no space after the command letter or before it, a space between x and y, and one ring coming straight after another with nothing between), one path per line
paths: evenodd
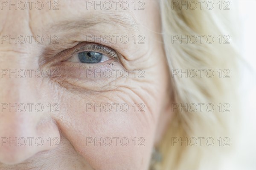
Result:
M93 168L147 168L156 129L153 114L137 95L125 100L131 98L125 91L86 98L64 92L61 97L59 127Z

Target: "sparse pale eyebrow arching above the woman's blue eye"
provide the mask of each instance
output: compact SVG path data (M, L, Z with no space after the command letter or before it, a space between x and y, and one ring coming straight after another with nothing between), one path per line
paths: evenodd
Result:
M132 32L139 32L139 24L132 16L124 16L121 14L101 14L94 15L93 17L79 17L75 20L62 20L58 23L53 23L50 25L51 31L69 31L75 28L87 29L89 27L95 26L99 23L113 24L122 26L126 30Z

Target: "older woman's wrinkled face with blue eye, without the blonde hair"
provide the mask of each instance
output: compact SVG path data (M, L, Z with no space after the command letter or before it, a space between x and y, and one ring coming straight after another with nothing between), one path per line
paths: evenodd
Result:
M1 169L147 168L169 101L157 2L9 2Z

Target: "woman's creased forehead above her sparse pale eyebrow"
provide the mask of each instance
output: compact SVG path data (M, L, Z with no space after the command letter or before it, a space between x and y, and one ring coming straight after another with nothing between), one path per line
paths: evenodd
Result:
M52 31L102 23L136 32L141 26L150 27L150 23L154 23L152 19L158 13L157 9L157 1L151 0L1 1L1 21L15 24L17 19L29 20L33 29Z

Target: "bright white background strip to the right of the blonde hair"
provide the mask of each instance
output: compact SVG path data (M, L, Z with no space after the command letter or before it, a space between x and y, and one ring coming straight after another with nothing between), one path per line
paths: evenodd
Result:
M256 1L239 1L239 19L242 22L242 57L246 64L242 68L241 105L242 123L239 136L239 148L232 162L224 165L225 169L256 169Z

